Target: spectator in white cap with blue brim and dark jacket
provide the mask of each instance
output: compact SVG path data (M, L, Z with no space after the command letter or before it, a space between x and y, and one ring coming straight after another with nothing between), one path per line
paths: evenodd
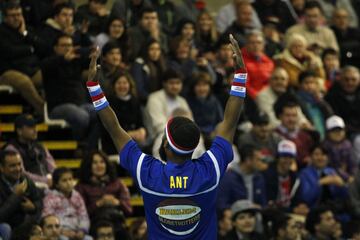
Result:
M290 140L278 144L276 161L263 172L266 198L269 205L289 210L299 187L296 172L291 166L296 162L296 145Z

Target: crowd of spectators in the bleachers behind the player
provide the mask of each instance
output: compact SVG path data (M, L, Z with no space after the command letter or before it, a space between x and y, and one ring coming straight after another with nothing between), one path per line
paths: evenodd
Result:
M0 86L30 106L0 151L0 239L146 239L118 154L86 92L89 54L121 126L159 156L167 120L211 145L242 49L247 98L220 181L218 239L360 239L360 5L356 0L2 0ZM46 103L46 104L45 104ZM57 168L36 123L64 119L78 175ZM204 219L206 221L206 219Z

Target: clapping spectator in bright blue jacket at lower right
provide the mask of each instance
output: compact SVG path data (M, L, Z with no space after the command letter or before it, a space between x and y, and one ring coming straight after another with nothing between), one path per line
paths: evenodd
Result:
M323 146L315 145L311 149L309 165L300 171L299 179L297 204L305 204L311 209L332 203L343 208L348 190L341 176L329 167L328 153Z

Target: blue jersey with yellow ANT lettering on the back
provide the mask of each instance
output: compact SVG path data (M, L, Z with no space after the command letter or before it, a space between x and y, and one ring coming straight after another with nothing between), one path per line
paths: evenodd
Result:
M200 158L164 163L129 141L120 153L144 199L148 239L217 238L217 186L233 159L231 144L216 137Z

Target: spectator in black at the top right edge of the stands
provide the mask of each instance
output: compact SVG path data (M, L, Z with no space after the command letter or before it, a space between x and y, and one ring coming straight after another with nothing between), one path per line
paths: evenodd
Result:
M342 8L334 10L331 29L340 46L341 65L359 65L360 30L351 26L347 10Z

